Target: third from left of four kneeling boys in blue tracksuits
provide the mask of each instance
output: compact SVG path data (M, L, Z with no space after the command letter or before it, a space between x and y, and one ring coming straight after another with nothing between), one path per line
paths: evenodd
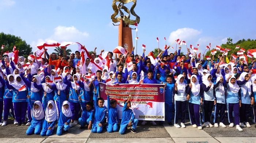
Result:
M117 101L115 99L110 100L108 95L108 132L116 132L118 131L118 124L120 124L120 120L117 112Z

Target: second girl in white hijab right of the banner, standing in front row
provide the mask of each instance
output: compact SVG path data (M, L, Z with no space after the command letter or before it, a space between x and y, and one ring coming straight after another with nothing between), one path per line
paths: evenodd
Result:
M188 100L188 110L189 110L189 119L192 127L198 128L198 130L202 130L202 125L200 124L200 114L199 108L200 103L203 103L203 98L201 98L200 94L200 84L196 75L192 75L190 77L190 84L189 84L190 92L189 100Z

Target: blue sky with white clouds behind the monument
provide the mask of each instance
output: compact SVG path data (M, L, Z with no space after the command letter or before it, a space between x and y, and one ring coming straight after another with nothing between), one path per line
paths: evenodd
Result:
M131 5L126 4L129 9ZM137 0L138 54L142 54L142 44L146 53L157 48L156 37L162 49L166 37L166 44L174 47L170 52L176 48L176 39L186 41L188 47L200 44L198 52L209 43L212 48L226 43L228 37L233 43L256 39L255 5L255 0ZM21 37L32 51L47 40L79 42L89 51L97 47L97 53L112 51L118 46L118 26L110 18L113 13L112 0L0 0L0 32ZM135 46L135 30L132 36ZM68 48L77 50L76 46ZM53 49L49 47L48 52Z

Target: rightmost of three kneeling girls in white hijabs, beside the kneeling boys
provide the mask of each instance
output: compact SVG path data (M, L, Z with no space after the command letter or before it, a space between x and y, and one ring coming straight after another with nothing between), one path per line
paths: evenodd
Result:
M61 106L61 111L60 111L60 117L59 117L59 122L58 122L58 128L57 128L57 135L62 135L62 131L67 131L70 126L69 123L71 122L71 117L72 117L72 111L70 109L69 102L65 100Z

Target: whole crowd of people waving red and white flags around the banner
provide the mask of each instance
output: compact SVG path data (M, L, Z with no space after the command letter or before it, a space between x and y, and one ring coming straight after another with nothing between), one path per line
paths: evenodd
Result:
M238 131L243 131L241 127L251 127L251 115L256 122L255 59L252 58L250 63L232 56L210 60L204 59L204 55L202 58L189 56L189 49L187 55L181 55L181 47L169 53L169 47L158 51L157 62L145 55L145 49L142 56L134 55L133 51L120 56L108 52L108 65L101 57L104 50L96 55L95 48L91 59L85 59L86 71L79 66L79 51L69 56L65 50L64 55L49 55L44 48L44 57L40 61L34 54L28 59L19 56L18 63L0 56L0 119L3 114L0 125L6 126L11 114L16 126L29 126L27 135L50 136L56 126L56 134L62 135L78 124L80 130L86 127L94 133L101 133L104 127L108 132L119 130L120 134L125 134L127 127L131 127L131 132L136 133L138 119L131 109L132 96L124 101L122 117L118 117L117 100L108 96L106 107L103 98L98 97L100 82L116 86L125 83L165 84L165 119L170 126L174 120L177 128L186 127L186 110L192 127L198 130L202 130L203 125L226 127L226 113L229 127L236 126ZM128 68L128 58L132 68ZM97 65L97 70L89 66L91 62ZM178 119L181 119L180 124ZM146 123L144 120L142 125Z

